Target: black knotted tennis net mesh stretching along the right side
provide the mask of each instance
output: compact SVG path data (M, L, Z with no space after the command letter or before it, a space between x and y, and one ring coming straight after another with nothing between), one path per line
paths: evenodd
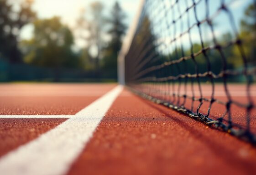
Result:
M145 0L125 84L255 144L255 38L256 0Z

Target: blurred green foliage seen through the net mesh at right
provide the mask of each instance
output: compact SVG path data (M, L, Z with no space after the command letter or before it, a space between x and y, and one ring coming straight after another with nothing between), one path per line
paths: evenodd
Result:
M256 65L256 6L251 4L247 7L244 12L244 18L240 22L240 32L239 37L242 40L242 45L239 47L236 44L231 44L226 46L229 42L233 41L232 35L230 33L224 33L218 38L220 46L223 46L222 53L224 54L225 59L222 58L222 55L216 49L210 49L207 51L207 56L209 58L210 70L215 74L219 74L223 70L224 62L227 65L227 69L240 69L244 67L245 61L249 63L249 66ZM205 46L210 46L210 43L205 42ZM181 70L181 73L196 73L196 65L198 67L199 73L204 73L208 71L208 61L207 57L204 56L202 51L201 44L193 43L193 46L190 46L184 51L185 56L190 56L192 53L199 53L195 57L195 61L188 59L184 63L179 63L178 66L184 67L183 64L187 65L187 71ZM244 52L244 55L241 53ZM181 49L178 48L176 51L173 51L167 56L168 60L177 60L181 57ZM243 56L247 60L243 60ZM178 75L179 72L177 67L171 66L172 73Z

